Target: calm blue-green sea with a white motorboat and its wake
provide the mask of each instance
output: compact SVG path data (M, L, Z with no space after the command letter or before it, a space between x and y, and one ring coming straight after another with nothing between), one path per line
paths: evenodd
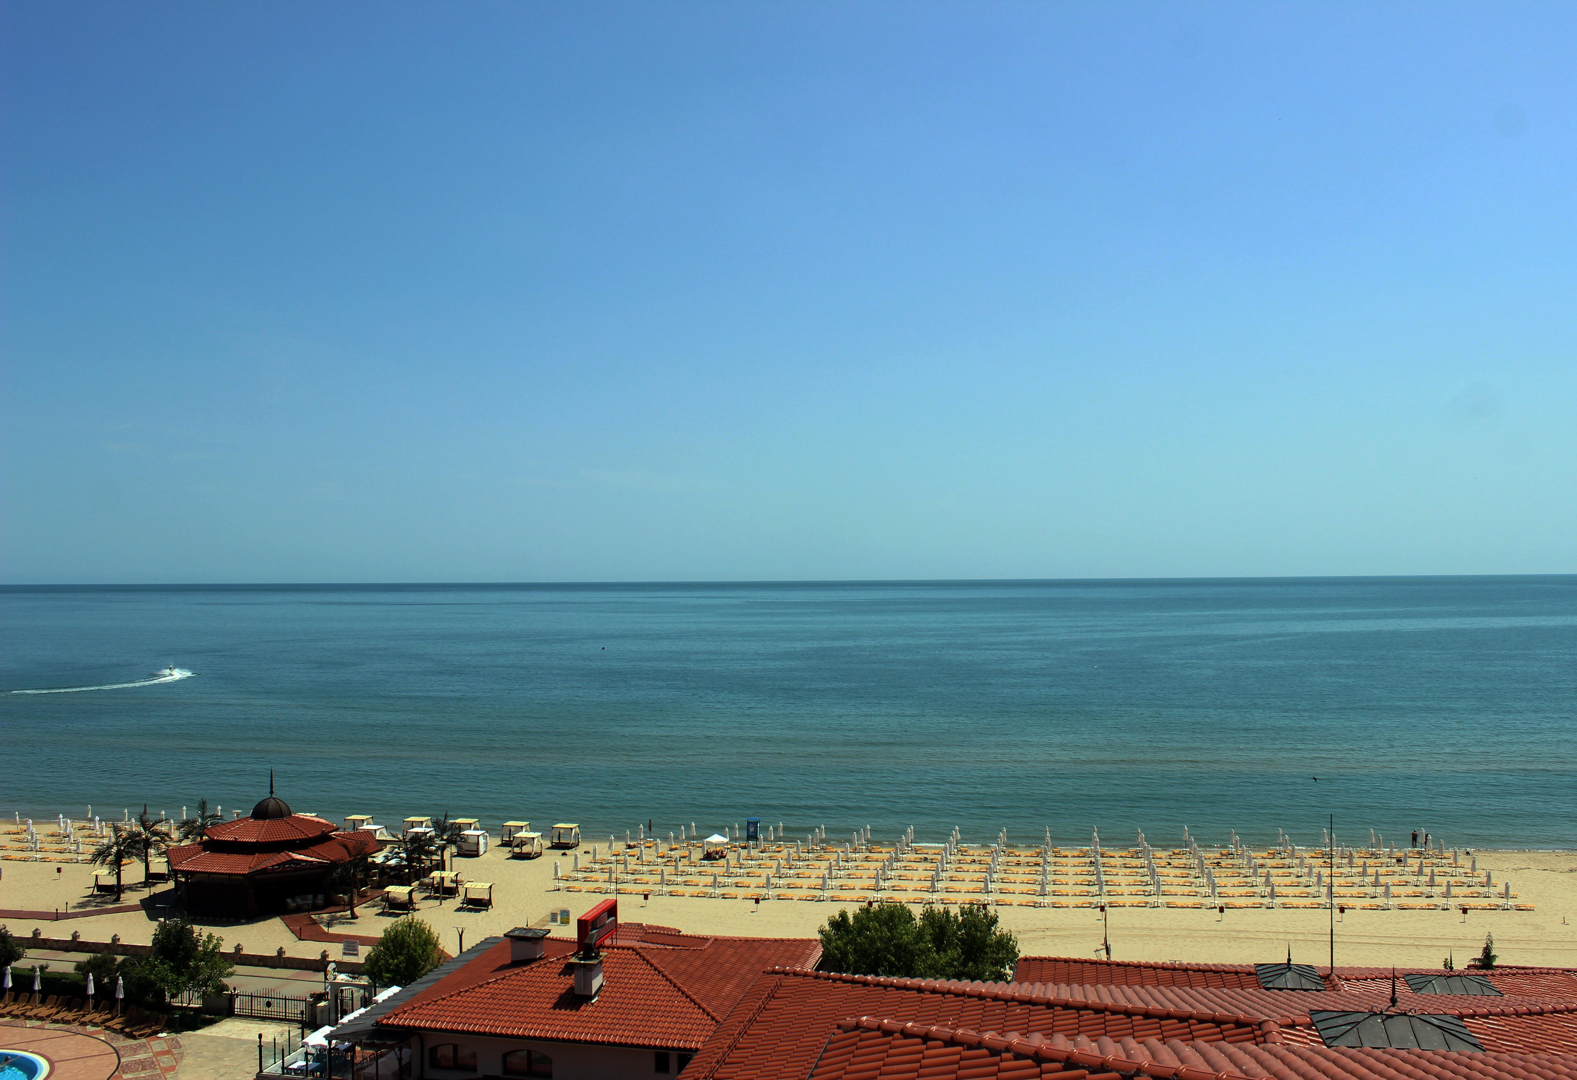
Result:
M588 839L1577 847L1577 577L8 587L0 632L5 817L271 776Z

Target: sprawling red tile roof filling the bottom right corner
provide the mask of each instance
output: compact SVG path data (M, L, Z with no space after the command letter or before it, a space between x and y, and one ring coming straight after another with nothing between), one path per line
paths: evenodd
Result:
M1241 984L1235 978L1252 978L1243 965L1033 957L1019 971L1112 982L938 984L773 971L718 1026L683 1080L1074 1080L1085 1074L1577 1080L1577 995L1564 992L1560 970L1509 981L1525 990L1553 990L1539 996L1411 995L1399 981L1399 998L1410 993L1415 1011L1427 1003L1429 1012L1462 1017L1484 1053L1325 1047L1309 1011L1385 1009L1389 970L1383 987L1356 978L1356 985L1339 992L1262 990L1257 979Z

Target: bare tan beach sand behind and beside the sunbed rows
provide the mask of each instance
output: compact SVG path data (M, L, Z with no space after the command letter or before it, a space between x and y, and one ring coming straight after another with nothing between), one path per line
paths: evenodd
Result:
M568 853L547 853L541 859L509 859L494 848L481 858L456 858L454 869L468 881L492 881L495 907L490 911L459 911L453 899L424 899L418 911L438 933L445 949L459 948L464 930L467 944L516 925L547 925L547 913L569 908L577 916L607 894L555 889L555 855L568 866ZM1484 935L1495 935L1501 963L1577 966L1577 851L1476 851L1479 867L1495 872L1495 880L1511 880L1522 903L1533 911L1470 911L1463 922L1459 911L1348 911L1336 924L1336 963L1339 966L1440 966L1448 954L1457 966L1478 955ZM0 910L79 910L90 900L93 867L65 864L55 872L49 862L3 864ZM128 880L140 869L128 870ZM159 891L169 886L155 886ZM148 894L128 891L125 902L137 903ZM620 894L624 922L678 927L689 933L754 937L814 937L826 918L841 907L831 902L713 900L692 897ZM394 916L380 905L358 910L360 918L320 916L331 932L377 937ZM1101 944L1101 916L1091 908L1000 908L1001 922L1019 937L1023 955L1093 957ZM44 937L69 938L76 930L90 941L107 941L118 933L128 943L153 937L156 908L118 914L96 914L58 922L3 918L17 937L33 927ZM325 949L339 959L336 944L298 941L278 918L255 922L199 921L246 952L274 952L317 957ZM572 937L574 925L552 927ZM1110 911L1113 960L1184 960L1195 963L1254 963L1282 960L1292 948L1293 960L1325 965L1329 955L1329 924L1323 910L1228 910L1217 921L1213 910L1113 908Z

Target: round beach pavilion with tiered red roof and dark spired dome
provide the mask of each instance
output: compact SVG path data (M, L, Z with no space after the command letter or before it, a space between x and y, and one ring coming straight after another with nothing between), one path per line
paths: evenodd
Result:
M322 907L336 870L361 867L382 850L371 832L345 832L320 817L293 814L273 787L251 817L214 825L197 844L170 848L170 873L189 914L246 918Z

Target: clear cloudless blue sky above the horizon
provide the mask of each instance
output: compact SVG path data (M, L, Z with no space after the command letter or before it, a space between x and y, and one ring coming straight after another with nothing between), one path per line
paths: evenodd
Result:
M1577 571L1577 5L3 5L6 582Z

